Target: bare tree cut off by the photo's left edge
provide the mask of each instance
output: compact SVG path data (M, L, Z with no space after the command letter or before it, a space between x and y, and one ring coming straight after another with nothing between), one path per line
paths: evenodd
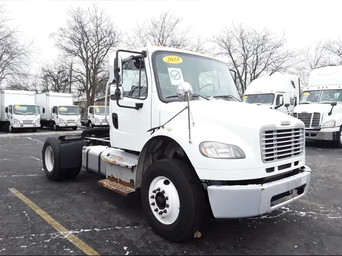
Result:
M28 75L33 41L21 40L18 28L8 25L4 5L0 5L0 85L8 87Z

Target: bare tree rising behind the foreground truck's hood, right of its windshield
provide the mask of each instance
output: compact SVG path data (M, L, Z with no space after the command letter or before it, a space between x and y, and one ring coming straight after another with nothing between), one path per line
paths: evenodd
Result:
M295 54L285 49L285 34L276 37L268 28L258 31L233 23L213 38L216 55L227 57L231 68L236 70L241 94L252 80L263 74L286 72L293 65Z

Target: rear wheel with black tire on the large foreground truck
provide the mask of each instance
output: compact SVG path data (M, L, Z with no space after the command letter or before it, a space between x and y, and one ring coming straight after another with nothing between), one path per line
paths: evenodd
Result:
M48 137L43 145L43 168L51 181L61 181L65 178L66 169L60 168L60 146L54 137Z

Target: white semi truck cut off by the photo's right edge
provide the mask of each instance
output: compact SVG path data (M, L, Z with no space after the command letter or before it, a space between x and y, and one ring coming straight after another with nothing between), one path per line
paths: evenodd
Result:
M342 66L311 71L293 116L305 123L308 140L331 141L342 148Z

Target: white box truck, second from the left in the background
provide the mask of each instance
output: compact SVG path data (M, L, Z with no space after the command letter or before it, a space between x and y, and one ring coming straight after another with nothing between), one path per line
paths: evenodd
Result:
M35 102L46 110L41 113L41 127L52 127L54 131L60 127L70 127L75 131L81 126L80 107L73 105L72 94L37 93Z

